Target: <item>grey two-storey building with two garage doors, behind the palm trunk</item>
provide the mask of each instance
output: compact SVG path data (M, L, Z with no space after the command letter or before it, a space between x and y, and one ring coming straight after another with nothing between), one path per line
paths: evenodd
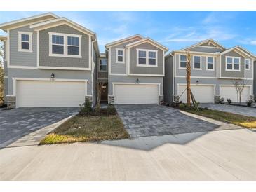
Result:
M191 53L191 90L197 102L219 102L221 97L225 101L231 99L237 102L234 82L239 80L247 81L241 102L254 97L255 56L241 46L227 49L213 39L207 39L166 55L166 102L187 102L187 51Z

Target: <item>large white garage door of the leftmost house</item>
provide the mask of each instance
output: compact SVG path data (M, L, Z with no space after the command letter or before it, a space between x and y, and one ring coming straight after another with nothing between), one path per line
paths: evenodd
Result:
M86 83L74 81L17 81L17 107L79 107Z

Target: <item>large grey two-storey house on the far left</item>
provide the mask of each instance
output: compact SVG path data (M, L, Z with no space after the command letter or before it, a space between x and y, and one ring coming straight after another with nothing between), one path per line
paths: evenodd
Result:
M45 13L0 25L8 107L78 107L95 104L96 34L67 18Z

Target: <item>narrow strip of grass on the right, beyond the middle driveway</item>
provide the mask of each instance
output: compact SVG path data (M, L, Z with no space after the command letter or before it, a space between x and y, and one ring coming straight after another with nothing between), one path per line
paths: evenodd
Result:
M242 116L238 114L232 114L229 112L211 110L211 109L200 109L199 111L186 109L185 111L200 116L206 116L213 118L217 121L223 121L226 123L233 123L235 125L242 126L244 128L256 128L256 118L249 116Z

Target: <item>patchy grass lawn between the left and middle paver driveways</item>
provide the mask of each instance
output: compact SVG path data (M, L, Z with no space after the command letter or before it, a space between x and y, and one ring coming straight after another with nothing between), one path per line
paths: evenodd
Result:
M126 139L130 137L119 116L74 116L60 125L40 142L40 144L60 144L72 142L93 142L100 140Z

